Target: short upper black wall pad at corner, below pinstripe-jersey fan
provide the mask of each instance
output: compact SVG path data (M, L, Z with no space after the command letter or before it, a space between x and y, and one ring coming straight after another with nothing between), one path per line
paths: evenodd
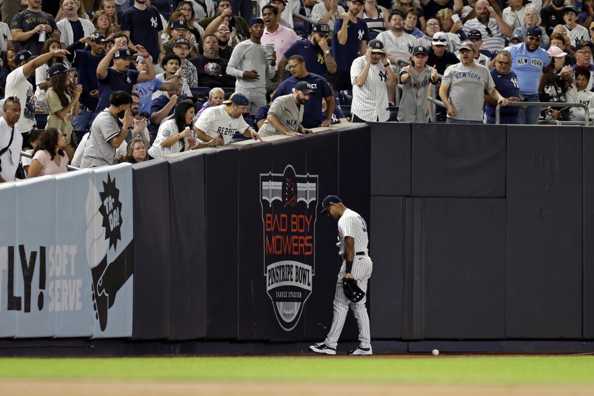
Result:
M371 128L371 195L410 195L409 123L374 123Z

